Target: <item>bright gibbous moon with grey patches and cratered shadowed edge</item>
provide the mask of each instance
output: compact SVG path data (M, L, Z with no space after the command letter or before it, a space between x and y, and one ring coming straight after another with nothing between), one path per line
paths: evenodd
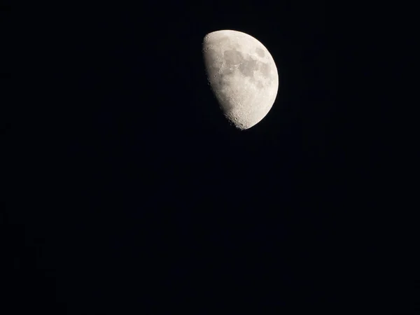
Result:
M241 31L213 31L202 43L211 90L223 114L239 130L264 118L276 100L279 74L260 41Z

